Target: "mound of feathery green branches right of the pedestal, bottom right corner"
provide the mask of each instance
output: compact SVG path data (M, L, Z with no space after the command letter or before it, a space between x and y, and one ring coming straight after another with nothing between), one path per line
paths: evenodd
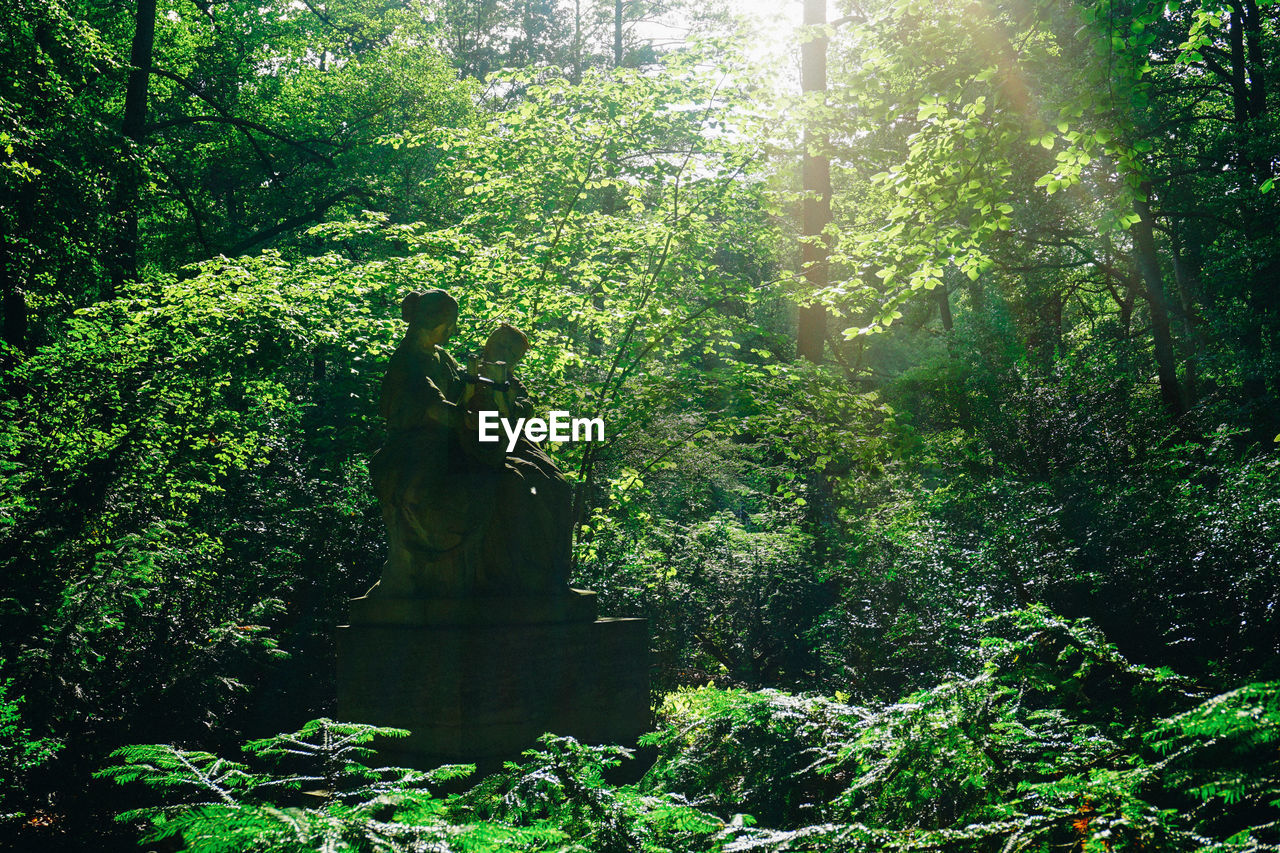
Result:
M769 816L726 849L1275 849L1275 683L1201 702L1087 621L988 625L980 670L893 704L672 694L644 786Z

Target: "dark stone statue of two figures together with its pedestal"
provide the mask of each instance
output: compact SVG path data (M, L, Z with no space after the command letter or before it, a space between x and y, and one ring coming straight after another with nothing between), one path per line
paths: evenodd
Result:
M515 375L529 339L503 324L462 370L442 348L448 293L401 310L370 464L390 549L337 629L338 715L408 729L379 760L422 768L497 767L544 731L634 742L649 729L646 622L598 619L595 593L570 589L570 488L543 448L479 441L481 412L534 411Z

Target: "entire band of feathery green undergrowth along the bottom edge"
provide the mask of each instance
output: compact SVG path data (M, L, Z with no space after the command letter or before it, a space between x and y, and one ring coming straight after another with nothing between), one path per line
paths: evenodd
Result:
M980 670L892 704L672 693L636 785L605 776L627 751L548 735L443 794L474 767L372 770L364 744L404 733L329 720L247 745L288 772L150 745L102 774L165 794L120 820L193 850L1275 849L1275 683L1201 701L1087 621L1033 608L989 626ZM306 785L314 804L287 802Z

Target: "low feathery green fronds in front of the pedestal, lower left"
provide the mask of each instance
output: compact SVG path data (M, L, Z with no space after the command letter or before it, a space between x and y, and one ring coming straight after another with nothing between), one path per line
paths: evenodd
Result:
M631 751L544 735L539 748L508 762L466 794L435 793L466 779L474 765L430 771L374 767L375 736L403 729L312 720L301 730L250 742L241 763L169 744L115 751L119 763L97 776L141 783L168 802L133 808L120 821L147 818L143 841L180 840L200 853L349 850L399 853L486 850L701 849L724 827L682 797L640 793L605 783L604 772ZM262 760L288 758L278 767ZM296 792L312 802L298 804ZM183 794L187 797L183 797Z

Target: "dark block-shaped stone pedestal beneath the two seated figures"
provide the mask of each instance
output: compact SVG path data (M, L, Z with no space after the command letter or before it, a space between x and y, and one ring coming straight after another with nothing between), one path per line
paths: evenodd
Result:
M544 731L634 744L649 726L643 619L596 619L595 593L357 598L338 628L338 717L408 729L388 763L490 765Z

